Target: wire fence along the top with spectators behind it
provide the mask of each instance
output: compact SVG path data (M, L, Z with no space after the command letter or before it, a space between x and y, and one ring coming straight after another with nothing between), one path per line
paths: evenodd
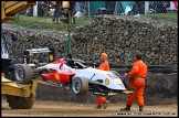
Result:
M92 18L98 14L112 15L141 15L158 13L178 14L178 1L71 1L72 18ZM27 17L52 18L54 23L59 23L56 18L63 19L65 11L63 2L36 1L36 6L29 7L17 14Z

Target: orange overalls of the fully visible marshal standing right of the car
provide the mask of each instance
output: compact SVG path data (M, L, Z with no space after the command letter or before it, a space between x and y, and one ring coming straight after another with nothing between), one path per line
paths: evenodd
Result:
M133 105L135 98L137 98L138 106L144 106L144 88L147 69L147 65L141 60L137 60L133 64L131 71L127 73L130 77L129 87L135 89L134 94L128 95L128 106Z

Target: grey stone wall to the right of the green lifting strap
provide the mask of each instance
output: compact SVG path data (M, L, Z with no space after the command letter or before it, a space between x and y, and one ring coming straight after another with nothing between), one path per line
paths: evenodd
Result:
M106 52L112 63L131 64L134 54L140 51L148 65L178 64L177 22L96 17L88 24L77 28L73 37L78 43L73 52L85 55L85 60L97 60L99 53Z

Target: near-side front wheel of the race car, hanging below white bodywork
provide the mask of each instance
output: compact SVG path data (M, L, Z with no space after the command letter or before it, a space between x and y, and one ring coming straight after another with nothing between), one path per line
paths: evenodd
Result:
M72 78L72 89L75 95L86 95L88 92L88 81L84 77L74 76Z

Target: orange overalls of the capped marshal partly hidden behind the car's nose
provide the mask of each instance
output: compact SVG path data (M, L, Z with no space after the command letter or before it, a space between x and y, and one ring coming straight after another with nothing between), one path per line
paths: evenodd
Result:
M108 62L105 61L105 62L101 63L98 68L103 69L103 71L109 71ZM97 106L102 106L106 101L106 98L103 96L96 96L96 97L97 97Z

